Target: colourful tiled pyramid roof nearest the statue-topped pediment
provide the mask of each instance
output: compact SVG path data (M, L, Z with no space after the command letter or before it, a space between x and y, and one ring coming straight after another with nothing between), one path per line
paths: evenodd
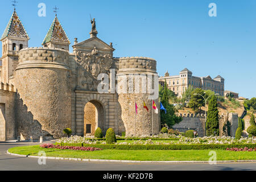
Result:
M55 16L55 19L53 20L52 25L49 28L49 31L46 35L46 38L44 38L42 45L48 42L70 44L68 36L66 35L63 27L61 26L57 16Z

